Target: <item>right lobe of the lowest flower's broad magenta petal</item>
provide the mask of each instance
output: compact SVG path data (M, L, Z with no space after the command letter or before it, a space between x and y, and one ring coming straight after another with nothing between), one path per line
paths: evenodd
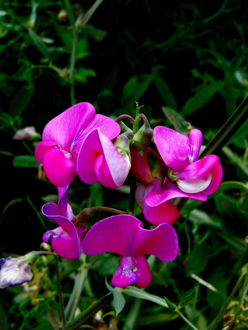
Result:
M162 223L152 230L139 227L137 233L136 255L152 254L158 259L170 262L178 254L178 237L175 229L168 223Z

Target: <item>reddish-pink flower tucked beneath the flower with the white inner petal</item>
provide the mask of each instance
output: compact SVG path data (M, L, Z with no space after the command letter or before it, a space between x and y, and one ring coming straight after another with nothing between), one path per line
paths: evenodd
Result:
M180 214L178 208L170 201L166 201L155 206L149 206L146 203L146 196L151 190L155 195L164 192L163 187L156 178L154 178L153 182L148 185L140 183L135 192L136 201L139 204L145 219L154 225L175 222L179 218Z

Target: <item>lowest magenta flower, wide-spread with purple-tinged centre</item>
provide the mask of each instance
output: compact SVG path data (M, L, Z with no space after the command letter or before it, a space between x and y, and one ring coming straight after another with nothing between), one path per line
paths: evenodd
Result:
M163 223L152 230L142 226L132 215L114 215L94 224L85 236L83 250L87 255L113 252L123 256L112 278L114 286L146 287L151 272L144 254L165 262L178 254L178 238L171 225Z

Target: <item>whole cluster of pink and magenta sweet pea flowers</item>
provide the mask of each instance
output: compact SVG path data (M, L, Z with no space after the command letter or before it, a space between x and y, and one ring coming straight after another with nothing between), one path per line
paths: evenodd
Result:
M145 287L151 281L145 255L170 262L178 253L178 238L171 224L179 218L179 210L171 199L205 201L218 189L222 168L215 155L198 160L202 143L199 130L192 130L189 137L163 126L152 131L141 114L136 119L126 116L131 118L133 130L122 123L120 134L118 122L122 118L125 115L116 121L96 115L91 104L79 103L46 125L35 156L43 164L47 178L58 187L59 202L45 204L42 213L59 227L46 232L43 240L51 242L53 249L68 259L78 258L83 251L87 255L122 255L112 284ZM144 125L139 129L141 119ZM159 154L149 148L152 137ZM156 158L152 170L147 152ZM145 219L155 225L153 229L144 229L130 212L100 220L91 228L87 224L88 209L81 213L84 221L82 216L73 215L68 204L68 185L77 174L87 184L100 182L116 189L125 182L130 170L131 177L140 181L133 185L132 193L137 188L135 198Z

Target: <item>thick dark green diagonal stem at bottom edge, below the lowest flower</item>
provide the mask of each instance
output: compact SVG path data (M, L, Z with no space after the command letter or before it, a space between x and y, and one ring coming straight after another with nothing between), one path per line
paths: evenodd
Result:
M106 304L108 304L113 299L112 293L108 293L102 298L98 299L91 306L86 308L82 313L80 313L73 321L68 323L62 330L75 330L84 324L90 317L95 315L100 311Z

